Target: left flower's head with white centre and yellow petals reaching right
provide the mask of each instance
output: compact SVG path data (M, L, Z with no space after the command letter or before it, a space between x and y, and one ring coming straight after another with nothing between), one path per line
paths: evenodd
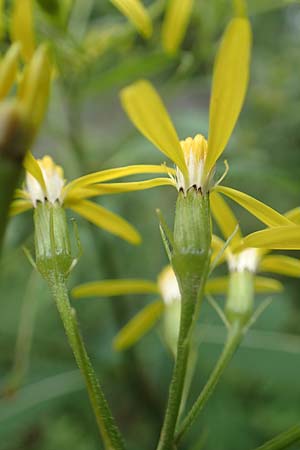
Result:
M27 154L24 162L26 181L22 190L17 190L16 199L11 205L11 214L19 214L35 208L39 202L60 204L70 208L85 219L94 223L132 244L140 243L140 235L127 221L118 215L93 203L88 198L99 195L129 192L137 189L141 182L132 183L103 183L112 179L134 175L144 169L144 173L165 173L165 166L129 166L107 169L91 173L66 183L63 170L57 166L50 156L36 160L31 153ZM145 187L153 187L156 179L146 180ZM166 179L166 181L169 181ZM163 179L159 182L163 182Z

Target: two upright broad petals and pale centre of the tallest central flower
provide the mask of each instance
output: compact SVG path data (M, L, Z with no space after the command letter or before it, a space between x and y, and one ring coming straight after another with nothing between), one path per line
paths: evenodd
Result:
M122 105L134 125L176 164L178 189L186 191L192 187L196 173L196 187L202 193L211 189L216 161L226 147L244 101L250 48L249 21L233 19L214 67L207 143L200 135L180 142L162 100L148 81L138 81L121 91Z

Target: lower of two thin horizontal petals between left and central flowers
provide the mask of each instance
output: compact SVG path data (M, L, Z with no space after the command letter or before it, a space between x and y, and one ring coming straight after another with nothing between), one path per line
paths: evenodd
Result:
M86 188L74 188L67 191L66 201L76 200L76 198L91 198L98 195L119 194L120 192L142 191L145 189L152 189L158 186L174 186L174 181L171 178L154 178L146 181L133 181L130 183L101 183Z

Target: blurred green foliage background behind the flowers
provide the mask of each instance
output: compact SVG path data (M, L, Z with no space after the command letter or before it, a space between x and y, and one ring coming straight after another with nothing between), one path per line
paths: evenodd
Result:
M140 77L150 78L159 89L181 138L207 135L212 64L232 14L231 2L195 0L182 49L172 58L160 41L164 2L144 3L155 17L149 41L106 0L76 0L68 28L59 2L35 5L37 34L52 42L59 75L33 151L52 155L67 179L164 161L120 106L120 88ZM251 82L226 151L226 185L284 212L300 203L300 5L248 3L254 32ZM136 225L143 236L139 247L76 217L83 255L69 286L105 278L155 280L167 264L155 209L172 226L175 200L175 190L168 187L99 200ZM244 232L261 228L248 213L234 210ZM96 450L101 448L98 431L56 308L22 251L23 245L33 251L32 230L31 213L11 220L0 263L0 450ZM75 247L74 242L74 252ZM300 283L281 281L285 291L274 296L245 339L182 448L250 450L299 421ZM172 358L159 327L122 354L112 350L112 339L149 300L151 296L73 301L130 450L152 449L157 442ZM262 300L257 298L257 305ZM207 379L225 336L208 304L198 333L191 398Z

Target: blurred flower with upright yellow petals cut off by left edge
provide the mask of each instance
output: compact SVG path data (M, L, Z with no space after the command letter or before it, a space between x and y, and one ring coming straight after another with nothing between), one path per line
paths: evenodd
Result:
M9 147L20 147L22 155L25 154L46 113L51 74L46 45L38 47L22 70L20 44L15 43L7 50L0 62L1 148L7 144L9 152Z

